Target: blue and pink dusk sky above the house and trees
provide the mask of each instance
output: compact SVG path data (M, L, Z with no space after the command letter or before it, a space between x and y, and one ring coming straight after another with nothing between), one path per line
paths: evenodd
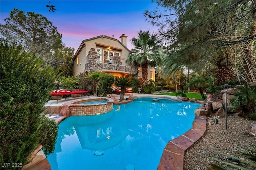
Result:
M45 16L62 34L66 47L78 49L82 40L107 35L120 40L120 35L127 37L127 47L132 49L132 37L138 37L138 31L150 30L157 33L157 28L145 21L143 12L154 10L155 2L151 0L50 0L56 8L48 12L48 0L0 0L0 22L10 16L14 8L26 12L34 12Z

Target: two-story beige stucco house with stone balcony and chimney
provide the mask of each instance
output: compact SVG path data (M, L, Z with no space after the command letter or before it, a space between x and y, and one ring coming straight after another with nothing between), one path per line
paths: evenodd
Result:
M116 77L138 73L142 81L142 70L127 63L130 50L126 47L126 38L122 34L119 41L114 35L100 35L83 40L73 57L73 75L86 71L100 71ZM148 80L155 80L155 68L148 68Z

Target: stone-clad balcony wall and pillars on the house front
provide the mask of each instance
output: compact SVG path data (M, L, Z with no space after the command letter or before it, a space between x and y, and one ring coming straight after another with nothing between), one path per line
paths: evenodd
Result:
M88 55L88 63L85 64L85 70L89 70L90 72L98 71L98 70L115 70L115 71L125 71L131 72L132 74L137 74L138 68L136 66L122 66L120 61L120 56L117 54L114 55L114 63L98 63L97 62L97 52L95 49L91 49Z

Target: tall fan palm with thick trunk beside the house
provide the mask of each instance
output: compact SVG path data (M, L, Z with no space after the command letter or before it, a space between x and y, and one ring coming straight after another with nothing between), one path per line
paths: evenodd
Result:
M150 35L148 31L138 31L138 38L132 38L134 49L128 56L128 63L142 66L142 86L148 84L148 66L156 66L160 61L159 41L156 34Z

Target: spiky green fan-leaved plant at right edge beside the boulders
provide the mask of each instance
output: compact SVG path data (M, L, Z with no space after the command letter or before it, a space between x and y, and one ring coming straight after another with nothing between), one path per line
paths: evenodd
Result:
M241 107L244 111L253 114L253 108L256 106L256 86L250 84L240 85L235 90L235 98L231 98L232 109Z

